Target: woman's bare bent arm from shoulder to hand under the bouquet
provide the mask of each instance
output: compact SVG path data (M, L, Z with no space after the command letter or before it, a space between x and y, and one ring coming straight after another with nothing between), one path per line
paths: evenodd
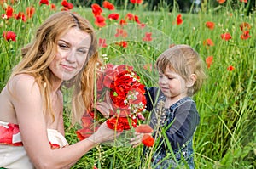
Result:
M96 143L113 138L114 132L100 127L94 134L95 142L84 139L62 149L51 149L47 138L47 125L43 113L43 99L32 76L14 78L10 89L15 93L12 100L20 134L26 153L36 168L66 168L73 165ZM106 125L106 124L105 124Z

